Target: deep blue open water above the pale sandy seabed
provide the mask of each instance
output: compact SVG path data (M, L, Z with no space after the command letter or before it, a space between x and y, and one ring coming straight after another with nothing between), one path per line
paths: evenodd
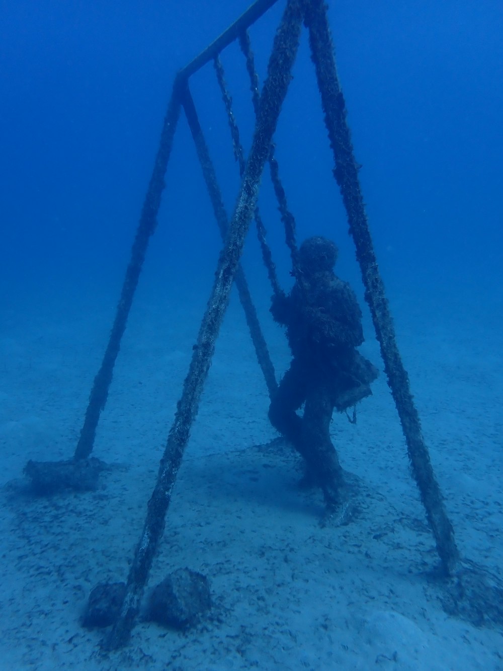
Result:
M262 81L278 5L251 31ZM1 3L2 293L118 289L174 74L246 6ZM386 285L500 291L501 3L337 2L329 17ZM223 60L249 146L237 49ZM211 70L192 89L230 211L237 169ZM299 236L336 238L341 273L356 276L305 36L294 74L276 139ZM147 263L169 266L173 281L211 272L219 240L184 121L167 177ZM281 259L274 205L264 207Z

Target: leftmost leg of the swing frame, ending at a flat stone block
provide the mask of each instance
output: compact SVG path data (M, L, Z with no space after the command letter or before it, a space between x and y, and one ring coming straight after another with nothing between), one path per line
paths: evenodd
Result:
M133 302L139 274L142 272L148 242L156 229L157 214L160 207L162 190L164 189L164 174L166 173L166 166L170 158L173 136L179 115L180 97L178 95L178 81L175 80L168 111L164 119L154 170L152 171L142 215L139 219L135 240L131 248L131 257L122 285L121 297L119 298L119 303L117 303L115 320L101 367L95 377L93 389L91 389L91 394L89 395L84 424L82 425L82 429L80 429L80 437L74 454L75 459L87 459L93 451L96 427L101 411L105 407L105 403L107 403L108 391L113 376L113 367L115 366L115 360L121 347L122 336L125 331L131 303Z

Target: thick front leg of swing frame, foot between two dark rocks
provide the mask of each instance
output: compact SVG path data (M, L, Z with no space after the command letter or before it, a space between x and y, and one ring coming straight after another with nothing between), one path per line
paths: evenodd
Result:
M298 48L303 15L304 0L288 0L274 39L274 48L268 66L268 78L260 100L260 113L256 122L254 140L251 144L229 235L219 258L215 283L201 322L197 344L194 346L182 397L178 401L174 422L160 462L157 483L148 502L144 529L127 578L121 613L106 642L109 650L121 648L129 639L139 609L139 600L164 529L164 518L170 503L172 488L188 442L190 427L197 415L199 399L215 349L215 340L229 302L229 294L245 235L254 215L260 178L268 157L278 115L290 83L290 71Z

